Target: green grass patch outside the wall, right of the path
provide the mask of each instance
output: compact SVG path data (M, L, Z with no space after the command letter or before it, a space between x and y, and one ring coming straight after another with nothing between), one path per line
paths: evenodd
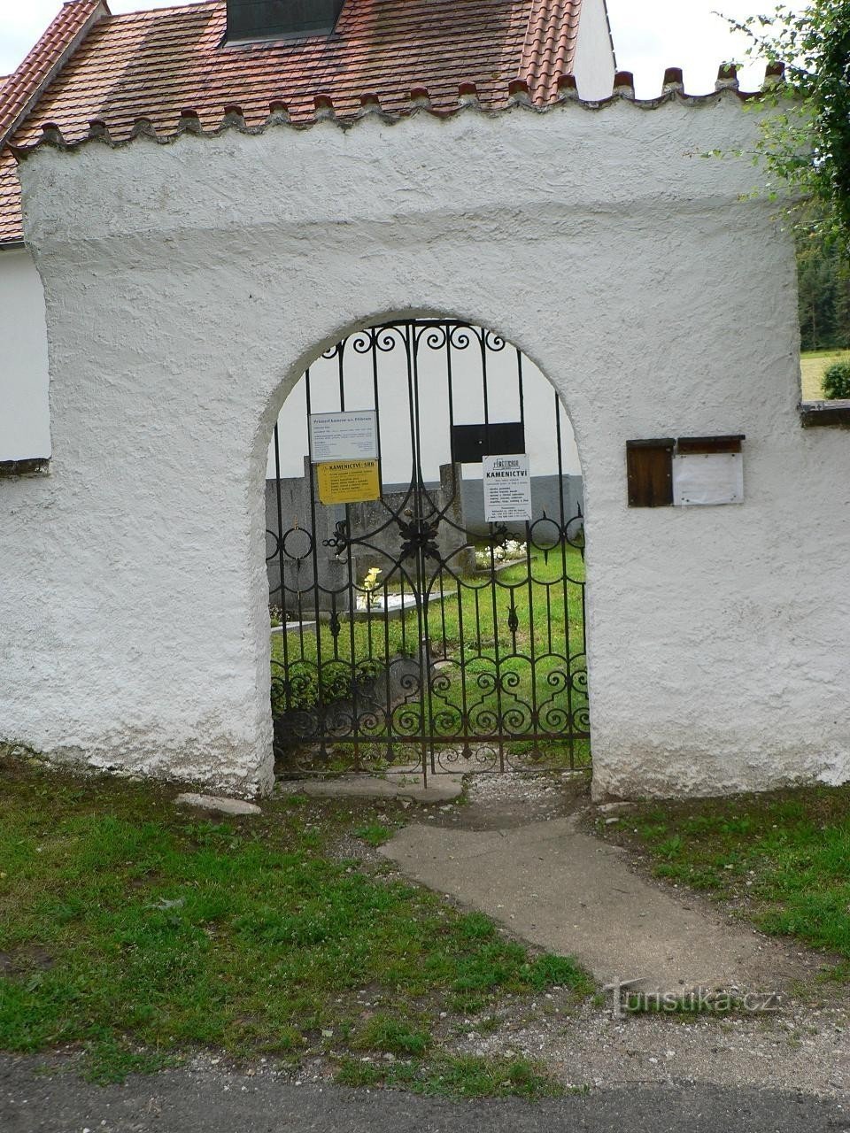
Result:
M836 954L850 978L850 786L645 804L614 829L648 852L656 876Z

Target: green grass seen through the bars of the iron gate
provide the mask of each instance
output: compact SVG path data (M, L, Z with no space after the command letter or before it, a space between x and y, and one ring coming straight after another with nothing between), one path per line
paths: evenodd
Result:
M343 614L335 636L326 622L317 634L290 632L286 641L273 634L275 714L315 704L320 650L325 696L342 699L349 695L352 658L357 672L368 679L388 659L418 657L427 629L432 671L430 695L418 706L422 731L447 739L467 732L495 734L495 722L501 721L517 751L533 731L550 734L552 740L544 742L555 747L570 722L573 730L586 731L584 579L584 559L576 547L549 554L535 550L530 563L522 560L499 571L495 588L488 574L457 580L443 571L432 589L442 589L444 599L432 600L426 614L416 608L390 620L379 613L367 620ZM386 591L398 589L390 579ZM379 717L364 739L384 734L385 722ZM587 766L587 740L573 741L571 750L567 743L562 747L576 765Z

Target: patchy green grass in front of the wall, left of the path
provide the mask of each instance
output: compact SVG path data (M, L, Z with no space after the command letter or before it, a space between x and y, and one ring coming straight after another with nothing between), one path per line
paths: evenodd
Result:
M294 796L210 821L175 787L1 753L0 783L0 1049L77 1046L103 1081L215 1049L452 1096L553 1089L447 1034L545 989L568 1010L589 979L346 852L400 807Z

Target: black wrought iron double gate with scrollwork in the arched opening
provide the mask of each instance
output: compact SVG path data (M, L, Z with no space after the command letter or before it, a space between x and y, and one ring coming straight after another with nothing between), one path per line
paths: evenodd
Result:
M301 477L283 476L291 444L275 427L267 568L280 622L275 753L287 773L589 763L584 520L580 505L567 505L554 391L554 495L539 511L535 499L519 527L468 514L483 487L464 470L474 474L483 455L525 452L530 370L491 331L420 320L352 334L304 375L299 418L317 406L376 410L384 483L375 503L321 503L312 449ZM473 382L481 419L459 423L459 393ZM505 390L513 421L500 419ZM306 426L303 434L309 446ZM390 449L409 468L396 486ZM539 459L532 453L533 474Z

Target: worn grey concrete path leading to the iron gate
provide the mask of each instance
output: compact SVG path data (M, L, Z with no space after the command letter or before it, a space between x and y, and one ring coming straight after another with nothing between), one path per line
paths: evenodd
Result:
M407 877L575 956L602 983L767 993L808 974L784 946L643 880L624 851L576 824L576 816L488 830L415 824L382 852Z

